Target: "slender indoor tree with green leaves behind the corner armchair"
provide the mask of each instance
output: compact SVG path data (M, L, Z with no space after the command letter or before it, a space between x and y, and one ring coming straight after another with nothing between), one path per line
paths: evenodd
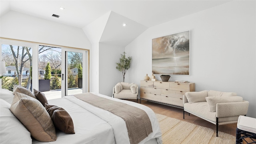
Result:
M123 78L127 72L127 70L130 68L130 64L131 64L131 60L132 60L132 57L128 57L126 58L125 56L126 52L123 52L123 54L121 54L121 58L119 58L120 62L119 63L116 63L116 69L118 69L120 72L122 72L123 74ZM124 82L124 79L123 79L123 82Z

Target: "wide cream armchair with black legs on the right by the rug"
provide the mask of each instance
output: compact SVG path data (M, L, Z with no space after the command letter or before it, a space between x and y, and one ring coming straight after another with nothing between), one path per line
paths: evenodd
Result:
M249 102L234 92L204 90L186 92L183 95L183 106L183 119L186 111L215 124L218 137L218 125L236 123L240 115L247 114Z

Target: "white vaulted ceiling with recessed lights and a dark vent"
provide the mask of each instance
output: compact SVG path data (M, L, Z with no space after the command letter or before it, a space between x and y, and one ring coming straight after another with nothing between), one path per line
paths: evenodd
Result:
M147 28L193 14L230 0L1 0L0 16L20 12L85 28L110 12L100 41L126 46ZM60 7L64 10L60 10ZM59 15L59 18L52 14ZM122 26L126 23L127 28ZM130 26L130 27L129 27ZM122 37L122 40L115 39Z

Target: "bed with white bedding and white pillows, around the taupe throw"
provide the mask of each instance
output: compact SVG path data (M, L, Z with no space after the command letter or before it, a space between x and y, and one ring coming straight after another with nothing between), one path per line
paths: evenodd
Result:
M98 93L84 93L99 98L104 98L114 102L121 102L143 110L150 119L152 132L143 138L140 144L162 144L162 134L158 120L154 112L142 104L136 102L120 100ZM80 94L83 97L84 94ZM10 106L14 94L9 90L0 89L0 143L32 143L32 144L130 144L134 143L130 139L130 130L126 126L124 118L113 114L112 112L94 106L84 100L79 99L77 95L65 96L63 98L48 100L48 104L64 108L71 116L75 134L66 134L56 129L56 141L42 142L31 138L30 132L26 127L12 114ZM97 98L98 98L97 97ZM140 122L143 123L143 122ZM134 127L136 129L136 126ZM136 133L140 137L140 134Z

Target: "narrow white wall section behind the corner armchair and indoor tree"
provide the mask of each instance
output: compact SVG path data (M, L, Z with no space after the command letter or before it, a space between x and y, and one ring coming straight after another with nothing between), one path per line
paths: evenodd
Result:
M110 44L99 44L99 93L112 96L113 87L123 81L122 72L116 69L124 47Z

